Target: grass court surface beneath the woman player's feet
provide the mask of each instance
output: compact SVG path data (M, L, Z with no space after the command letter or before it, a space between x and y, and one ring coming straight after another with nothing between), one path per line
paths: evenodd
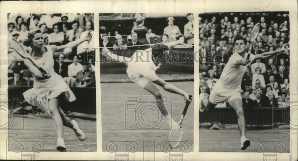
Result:
M96 141L96 121L71 118L76 120L80 129L85 134L85 140L80 141L75 136L72 129L64 126L63 137L67 151L97 151ZM13 129L23 129L22 115L15 115ZM10 130L8 139L8 150L13 151L14 145L19 142L23 145L24 151L32 151L35 142L44 144L43 151L57 151L57 135L54 130L52 118L50 116L24 115L24 129ZM13 136L18 133L18 136ZM26 142L23 142L26 141ZM29 142L27 142L29 141ZM32 141L32 142L31 142Z

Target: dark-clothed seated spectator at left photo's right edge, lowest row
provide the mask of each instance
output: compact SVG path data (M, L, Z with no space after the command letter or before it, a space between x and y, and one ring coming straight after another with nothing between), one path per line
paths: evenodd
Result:
M75 87L95 87L95 72L91 69L91 63L83 62L83 70L77 72Z

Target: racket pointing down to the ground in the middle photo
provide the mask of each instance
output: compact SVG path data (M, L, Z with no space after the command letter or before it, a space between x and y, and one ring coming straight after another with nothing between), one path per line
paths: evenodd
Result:
M189 95L189 99L192 100L192 98L193 98L193 96ZM170 142L170 145L172 148L176 148L182 139L182 136L183 136L182 121L184 119L184 116L186 114L189 104L190 104L190 101L187 101L184 106L184 110L183 110L183 113L182 113L182 116L181 116L181 119L180 119L178 125L176 127L174 127L170 132L169 142ZM180 129L180 131L179 131L179 129Z

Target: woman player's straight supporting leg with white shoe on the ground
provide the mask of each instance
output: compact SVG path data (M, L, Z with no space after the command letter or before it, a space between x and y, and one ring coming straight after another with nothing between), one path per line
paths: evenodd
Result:
M59 100L58 98L49 99L49 110L54 122L54 129L57 134L57 150L66 151L65 143L63 140L63 121L59 114Z

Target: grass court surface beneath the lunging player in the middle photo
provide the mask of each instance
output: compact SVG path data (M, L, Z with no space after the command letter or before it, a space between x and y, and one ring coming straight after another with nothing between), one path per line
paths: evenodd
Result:
M193 82L170 83L193 95ZM166 92L163 89L162 92L163 97L166 99L164 102L167 102L165 104L172 104L172 108L170 107L169 111L173 119L178 122L185 105L183 96ZM170 133L170 129L164 118L161 120L160 127L149 126L150 129L146 129L142 126L136 126L136 123L139 121L141 121L139 122L140 124L157 125L160 123L158 122L159 118L162 118L161 112L154 108L147 108L147 111L141 110L144 113L142 115L143 117L139 118L138 112L136 112L137 108L132 109L128 106L128 104L139 102L134 101L134 98L137 97L137 100L140 100L141 95L147 98L145 99L147 102L155 102L154 97L136 83L101 83L103 151L109 151L111 142L117 144L118 151L126 151L128 143L133 142L137 145L136 151L163 150L161 146L163 142L168 141L168 135ZM132 101L127 102L129 97L131 97ZM136 107L141 106L138 105ZM183 121L184 135L181 140L181 143L191 143L191 146L193 146L193 108L192 102ZM179 146L172 149L172 151L180 151Z

